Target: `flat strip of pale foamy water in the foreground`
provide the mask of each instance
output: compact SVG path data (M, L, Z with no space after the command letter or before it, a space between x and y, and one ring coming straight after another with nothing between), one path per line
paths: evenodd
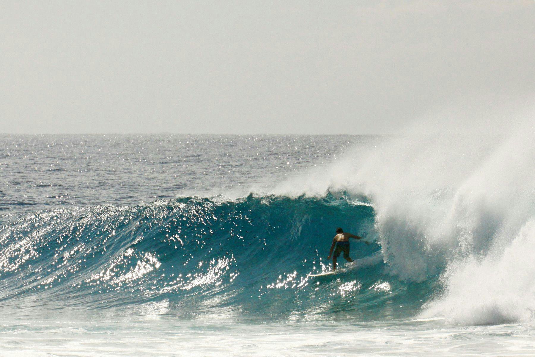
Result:
M4 321L9 356L463 356L533 355L530 325L461 328L440 321L221 324L143 321ZM16 331L16 332L15 332Z

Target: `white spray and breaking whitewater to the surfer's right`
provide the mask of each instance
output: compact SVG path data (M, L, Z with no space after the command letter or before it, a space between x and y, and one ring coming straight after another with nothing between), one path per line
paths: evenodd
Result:
M461 324L525 322L535 288L531 129L530 120L518 120L501 132L408 131L357 147L274 192L365 196L390 274L407 282L441 276L424 316Z

